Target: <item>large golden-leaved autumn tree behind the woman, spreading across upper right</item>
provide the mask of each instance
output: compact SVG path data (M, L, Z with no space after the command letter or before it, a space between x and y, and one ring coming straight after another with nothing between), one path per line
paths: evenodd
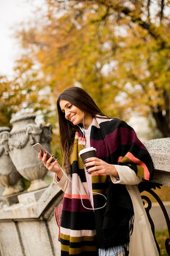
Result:
M52 103L64 88L81 86L109 116L152 113L169 137L170 20L164 1L46 4L41 19L18 31L25 54L16 81L50 86ZM22 68L31 61L34 77L33 68L31 76L29 65Z

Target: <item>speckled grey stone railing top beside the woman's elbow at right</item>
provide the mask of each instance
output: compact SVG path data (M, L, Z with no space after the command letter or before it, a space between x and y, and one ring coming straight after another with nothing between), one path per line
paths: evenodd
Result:
M152 157L154 168L170 173L170 138L151 139L143 144Z

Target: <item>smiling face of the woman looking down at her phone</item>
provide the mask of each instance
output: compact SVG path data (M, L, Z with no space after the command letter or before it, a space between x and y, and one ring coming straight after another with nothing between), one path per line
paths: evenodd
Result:
M85 129L88 129L88 127L91 125L93 120L92 115L80 110L69 101L62 99L60 101L60 108L62 112L65 114L65 118L71 121L74 125L83 124L83 115Z

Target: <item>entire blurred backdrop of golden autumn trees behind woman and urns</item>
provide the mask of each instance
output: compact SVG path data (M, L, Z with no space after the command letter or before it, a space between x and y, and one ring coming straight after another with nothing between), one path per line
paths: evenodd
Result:
M1 126L34 113L53 125L51 146L58 153L56 99L79 86L141 140L170 137L168 0L21 3L31 16L11 24L20 51L12 76L0 74Z

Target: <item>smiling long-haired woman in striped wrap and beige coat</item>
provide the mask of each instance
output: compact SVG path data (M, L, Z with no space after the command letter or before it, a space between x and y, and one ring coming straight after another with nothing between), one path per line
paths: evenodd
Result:
M64 191L61 255L158 256L137 184L151 180L152 159L135 131L108 118L84 90L71 87L58 97L63 166L46 161ZM93 146L97 157L79 151ZM86 167L93 166L86 170Z

